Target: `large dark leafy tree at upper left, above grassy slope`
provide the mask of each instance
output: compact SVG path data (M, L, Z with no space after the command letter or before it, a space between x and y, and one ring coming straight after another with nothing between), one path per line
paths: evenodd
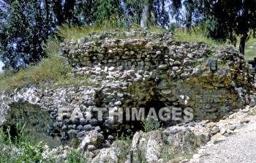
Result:
M1 61L14 71L37 63L46 57L42 42L57 26L94 22L95 3L96 0L1 0Z

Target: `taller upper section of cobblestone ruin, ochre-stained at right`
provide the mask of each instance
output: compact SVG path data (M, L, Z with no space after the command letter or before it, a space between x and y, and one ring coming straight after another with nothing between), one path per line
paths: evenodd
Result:
M72 40L61 47L70 64L84 67L78 73L126 83L119 92L132 96L117 98L122 107L143 106L157 99L166 106L192 107L196 118L214 119L254 104L249 97L255 91L252 70L235 48L217 50L204 42L174 42L170 34L161 34L151 34L158 39ZM210 71L209 59L218 61L217 71ZM114 103L102 106L114 107Z

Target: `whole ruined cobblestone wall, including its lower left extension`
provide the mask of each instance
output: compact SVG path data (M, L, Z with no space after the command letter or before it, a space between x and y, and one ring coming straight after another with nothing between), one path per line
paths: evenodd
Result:
M217 120L231 110L255 105L255 79L235 48L175 42L167 33L131 31L121 35L127 39L114 39L121 37L118 34L105 32L61 43L62 56L74 67L74 75L89 77L97 87L41 90L31 86L1 92L1 124L10 124L8 115L15 113L16 104L36 105L49 115L44 120L48 128L39 132L47 131L64 143L74 137L81 141L96 130L100 148L110 145L116 131L136 131L140 126L109 121L108 113L104 121L94 113L89 121L87 108L112 107L113 112L117 107L191 107L194 120ZM218 61L217 71L210 70L209 59ZM34 117L25 113L26 118Z

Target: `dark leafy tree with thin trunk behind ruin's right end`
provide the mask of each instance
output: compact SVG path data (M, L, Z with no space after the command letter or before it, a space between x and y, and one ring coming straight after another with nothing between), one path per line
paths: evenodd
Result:
M240 36L239 50L244 54L248 33L256 29L256 0L200 0L200 10L208 37L222 42L230 39L235 44L236 34Z

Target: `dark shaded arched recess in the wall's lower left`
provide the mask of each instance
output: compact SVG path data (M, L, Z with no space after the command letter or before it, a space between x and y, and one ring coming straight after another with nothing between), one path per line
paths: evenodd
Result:
M4 134L8 136L8 131L10 131L11 139L17 140L18 133L22 129L28 139L43 141L50 147L59 146L59 140L48 137L48 133L53 129L48 127L53 126L48 110L42 110L40 106L27 102L13 103L9 106L10 110L5 117L6 124L2 126Z

